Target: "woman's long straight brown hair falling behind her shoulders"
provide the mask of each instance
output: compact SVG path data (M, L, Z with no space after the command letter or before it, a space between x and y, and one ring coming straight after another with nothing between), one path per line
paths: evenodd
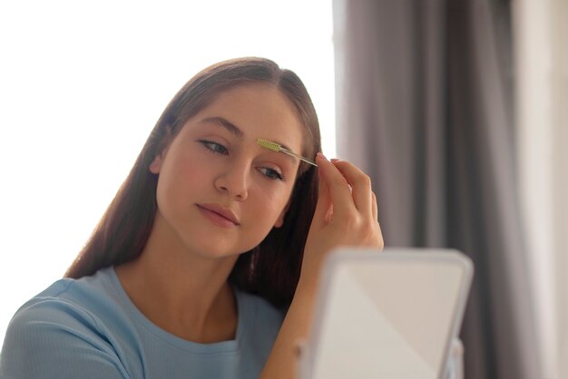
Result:
M149 170L152 160L181 126L213 102L220 92L250 83L273 85L287 96L304 126L302 154L314 157L321 151L318 116L296 73L280 69L278 64L263 58L240 58L214 64L191 78L171 99L130 174L65 277L93 275L103 267L120 265L140 256L157 209L158 176ZM318 175L311 166L301 163L284 224L273 228L258 247L240 255L230 274L230 282L265 297L276 306L289 305L298 284L304 244L317 199Z

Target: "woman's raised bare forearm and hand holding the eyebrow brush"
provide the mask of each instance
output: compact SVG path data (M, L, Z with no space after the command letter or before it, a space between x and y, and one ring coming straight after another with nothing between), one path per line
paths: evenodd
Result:
M329 251L339 246L383 248L377 199L368 176L348 161L329 161L321 154L316 161L318 205L304 248L299 283L262 378L294 377L298 344L308 338L319 272Z

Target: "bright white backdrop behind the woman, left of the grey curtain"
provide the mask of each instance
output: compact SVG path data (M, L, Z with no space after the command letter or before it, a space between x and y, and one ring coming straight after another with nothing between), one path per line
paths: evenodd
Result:
M0 341L62 277L174 93L245 55L299 74L335 156L328 0L0 3Z

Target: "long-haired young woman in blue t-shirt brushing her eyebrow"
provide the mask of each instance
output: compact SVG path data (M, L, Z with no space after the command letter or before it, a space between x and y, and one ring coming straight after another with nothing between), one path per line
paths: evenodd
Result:
M383 246L367 175L318 151L296 74L260 58L198 73L66 277L15 314L0 377L294 377L323 259Z

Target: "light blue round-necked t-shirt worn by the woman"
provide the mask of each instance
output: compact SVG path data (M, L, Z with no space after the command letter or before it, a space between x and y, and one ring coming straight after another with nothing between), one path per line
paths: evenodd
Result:
M284 314L235 290L236 339L197 344L152 324L132 304L113 267L62 279L10 322L0 378L257 378Z

